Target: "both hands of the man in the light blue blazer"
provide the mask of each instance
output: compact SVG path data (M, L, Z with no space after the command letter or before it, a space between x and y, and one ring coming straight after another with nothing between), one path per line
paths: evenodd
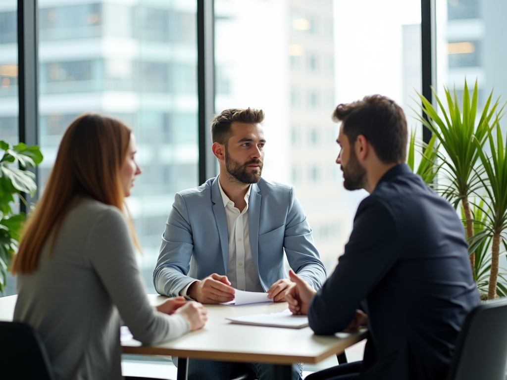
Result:
M268 298L273 299L275 302L286 301L285 295L295 286L296 284L291 280L278 280L268 289ZM231 287L227 276L213 273L201 281L192 283L187 290L187 294L201 303L220 303L232 301L234 291L235 289Z

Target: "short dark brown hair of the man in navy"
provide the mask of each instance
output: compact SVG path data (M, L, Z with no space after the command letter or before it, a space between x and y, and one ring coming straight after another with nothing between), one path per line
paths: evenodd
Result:
M358 135L366 137L384 164L402 163L407 158L407 120L402 108L381 95L365 96L339 104L333 120L343 123L343 133L352 144Z

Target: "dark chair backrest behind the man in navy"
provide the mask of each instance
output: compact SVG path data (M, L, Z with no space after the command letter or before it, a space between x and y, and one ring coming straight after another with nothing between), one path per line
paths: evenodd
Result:
M493 300L465 318L448 380L504 380L507 363L507 300Z

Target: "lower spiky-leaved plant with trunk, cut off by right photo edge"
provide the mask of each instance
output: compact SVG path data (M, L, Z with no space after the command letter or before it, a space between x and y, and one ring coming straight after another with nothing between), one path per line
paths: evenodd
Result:
M493 135L493 131L496 132L496 136ZM498 115L492 128L488 129L487 137L491 155L487 156L482 148L478 149L478 152L485 174L479 176L486 195L482 199L488 205L488 210L485 212L484 232L476 237L475 242L479 243L487 237L491 237L492 240L491 271L488 284L488 299L492 299L497 296L500 243L507 247L504 235L504 231L507 229L507 152L503 144ZM478 139L476 139L476 146L481 146Z

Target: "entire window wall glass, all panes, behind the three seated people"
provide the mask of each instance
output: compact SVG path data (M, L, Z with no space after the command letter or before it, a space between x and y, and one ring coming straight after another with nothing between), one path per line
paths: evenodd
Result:
M507 91L502 0L436 5L437 92L478 79L481 104ZM101 111L133 127L143 175L128 200L150 291L173 195L198 185L195 1L39 0L42 191L61 135ZM264 176L295 186L331 272L367 194L343 189L335 164L338 103L383 94L421 138L419 0L214 0L215 111L266 112ZM17 137L16 2L0 3L0 134ZM416 109L416 111L413 111ZM417 163L416 163L417 164Z

